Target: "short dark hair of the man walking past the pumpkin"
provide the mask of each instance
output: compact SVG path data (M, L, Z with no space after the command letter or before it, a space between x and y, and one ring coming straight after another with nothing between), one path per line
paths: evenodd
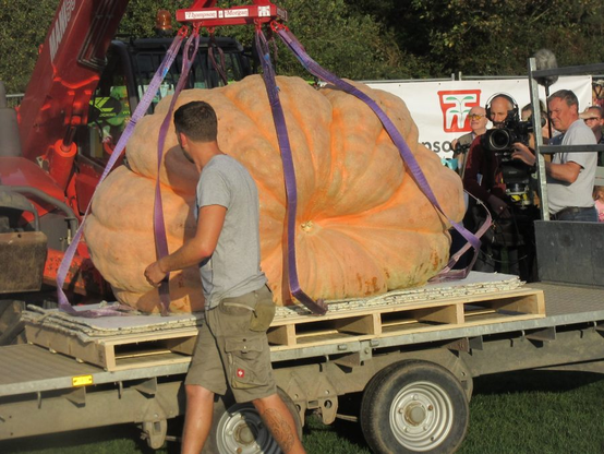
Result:
M174 128L195 142L214 142L218 135L218 120L214 108L194 100L174 111Z

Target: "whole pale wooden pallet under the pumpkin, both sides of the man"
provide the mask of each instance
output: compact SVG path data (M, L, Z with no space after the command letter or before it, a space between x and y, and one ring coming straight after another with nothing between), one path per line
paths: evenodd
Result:
M271 351L545 316L543 291L530 288L364 308L345 302L333 308L321 318L277 316L267 333ZM26 321L25 333L32 344L118 371L189 362L197 328L94 337Z

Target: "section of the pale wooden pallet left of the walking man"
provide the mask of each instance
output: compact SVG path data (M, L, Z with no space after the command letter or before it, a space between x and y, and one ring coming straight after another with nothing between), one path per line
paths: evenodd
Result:
M26 323L27 342L48 348L53 353L90 362L108 371L135 367L166 366L189 362L197 330L173 328L145 334L124 334L82 340L52 327Z

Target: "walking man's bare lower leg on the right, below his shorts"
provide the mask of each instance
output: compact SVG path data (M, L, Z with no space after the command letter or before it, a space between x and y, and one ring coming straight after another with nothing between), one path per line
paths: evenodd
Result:
M252 402L285 454L305 453L289 408L278 394Z

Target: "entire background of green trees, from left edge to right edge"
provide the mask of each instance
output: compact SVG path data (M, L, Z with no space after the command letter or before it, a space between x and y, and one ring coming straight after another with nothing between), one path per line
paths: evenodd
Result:
M125 1L125 0L124 0ZM349 79L526 74L527 59L547 47L559 65L604 61L602 0L276 0L311 57ZM158 9L186 0L130 0L119 35L155 34ZM225 0L220 7L250 3ZM23 92L59 0L0 0L0 80ZM174 28L180 25L174 21ZM226 27L245 46L252 27ZM306 76L281 46L278 73Z

